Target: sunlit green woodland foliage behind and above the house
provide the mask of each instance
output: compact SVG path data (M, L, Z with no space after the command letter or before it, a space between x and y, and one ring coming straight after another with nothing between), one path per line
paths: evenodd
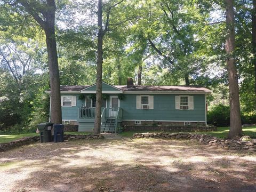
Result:
M51 31L45 25L49 2L0 1L1 129L14 124L32 128L38 111L43 112L38 122L49 118L44 94L52 84L45 42ZM98 1L54 3L53 56L58 57L60 84L93 84ZM233 6L239 101L242 113L255 114L255 1L235 0ZM214 92L207 97L210 108L227 103L225 10L221 1L103 0L102 80L124 85L132 77L138 85L201 85Z

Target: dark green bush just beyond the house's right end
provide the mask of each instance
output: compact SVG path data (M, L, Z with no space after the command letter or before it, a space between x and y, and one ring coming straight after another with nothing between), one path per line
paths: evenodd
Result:
M229 126L229 113L229 106L222 104L216 105L207 113L207 123L215 126Z

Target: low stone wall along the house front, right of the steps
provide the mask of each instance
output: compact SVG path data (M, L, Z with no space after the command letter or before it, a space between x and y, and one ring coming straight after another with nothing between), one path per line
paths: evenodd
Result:
M189 132L189 131L217 131L215 126L143 126L143 125L131 125L124 126L124 131L177 131L177 132Z

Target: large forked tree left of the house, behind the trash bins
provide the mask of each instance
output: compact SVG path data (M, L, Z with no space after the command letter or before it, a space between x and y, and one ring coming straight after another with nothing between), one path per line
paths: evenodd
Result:
M60 79L55 39L55 1L46 2L14 0L9 2L20 14L29 13L45 32L51 83L51 121L62 123Z

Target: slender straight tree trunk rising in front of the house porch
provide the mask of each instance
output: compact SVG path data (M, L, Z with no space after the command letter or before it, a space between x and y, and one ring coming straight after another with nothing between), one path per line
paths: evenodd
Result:
M102 0L98 1L98 57L96 80L96 108L94 121L94 134L100 133L101 124L101 91L102 91L102 63L103 63L103 29L102 29Z

